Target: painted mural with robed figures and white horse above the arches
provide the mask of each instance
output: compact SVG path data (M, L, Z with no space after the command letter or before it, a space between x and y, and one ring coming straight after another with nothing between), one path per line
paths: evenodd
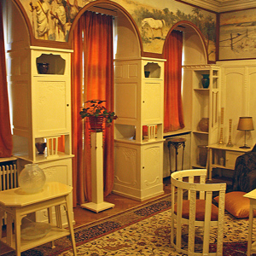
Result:
M67 42L75 16L96 0L20 0L35 38ZM188 20L202 32L209 61L215 61L216 15L175 0L113 0L137 22L144 52L161 54L166 35L174 24Z

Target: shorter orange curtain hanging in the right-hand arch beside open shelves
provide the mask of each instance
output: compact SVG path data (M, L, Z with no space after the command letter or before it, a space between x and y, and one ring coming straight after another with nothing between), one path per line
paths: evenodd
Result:
M165 44L164 132L184 127L182 104L183 33L172 31Z

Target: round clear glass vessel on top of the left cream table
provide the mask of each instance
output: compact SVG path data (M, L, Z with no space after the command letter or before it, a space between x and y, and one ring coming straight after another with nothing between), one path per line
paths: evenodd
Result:
M27 164L20 172L19 185L27 194L35 194L42 191L46 177L38 164Z

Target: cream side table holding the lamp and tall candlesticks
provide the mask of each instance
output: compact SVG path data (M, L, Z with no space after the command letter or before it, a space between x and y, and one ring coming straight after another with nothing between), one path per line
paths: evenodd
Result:
M225 145L213 144L209 145L208 149L208 178L212 179L213 168L235 170L236 158L241 154L251 151L253 148L239 148L236 145L227 147Z

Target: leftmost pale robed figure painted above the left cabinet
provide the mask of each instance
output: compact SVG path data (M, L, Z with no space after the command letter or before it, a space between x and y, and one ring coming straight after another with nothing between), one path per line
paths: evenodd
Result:
M44 2L44 0L38 0L35 5L32 2L29 3L31 6L31 12L33 14L34 10L37 13L37 32L38 39L48 40L49 32L49 6ZM34 28L34 20L32 15L32 23Z

